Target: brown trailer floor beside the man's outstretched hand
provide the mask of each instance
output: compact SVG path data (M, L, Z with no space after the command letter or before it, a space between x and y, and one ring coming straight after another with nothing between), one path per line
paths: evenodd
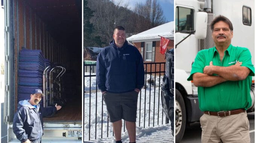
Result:
M80 121L82 122L82 101L77 98L67 100L66 106L58 110L55 115L49 118L43 118L44 122L49 121Z

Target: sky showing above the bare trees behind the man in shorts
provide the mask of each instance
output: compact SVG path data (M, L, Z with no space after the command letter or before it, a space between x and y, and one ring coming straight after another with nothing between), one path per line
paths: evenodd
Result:
M115 3L120 1L120 5L128 4L128 8L133 9L138 0L113 0ZM140 0L141 3L145 3L146 0ZM163 13L167 21L174 21L174 0L158 0L160 6L163 9Z

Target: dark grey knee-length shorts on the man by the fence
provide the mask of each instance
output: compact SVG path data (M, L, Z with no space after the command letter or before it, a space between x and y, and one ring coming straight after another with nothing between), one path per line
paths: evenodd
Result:
M103 98L107 106L110 122L116 122L121 119L136 122L138 92L106 92L103 94Z

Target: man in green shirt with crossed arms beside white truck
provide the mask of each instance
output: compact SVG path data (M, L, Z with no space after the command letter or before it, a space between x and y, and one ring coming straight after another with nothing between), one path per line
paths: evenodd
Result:
M254 67L247 48L231 45L233 26L219 15L211 23L215 47L198 52L187 80L198 86L202 143L250 143L246 110L251 106Z

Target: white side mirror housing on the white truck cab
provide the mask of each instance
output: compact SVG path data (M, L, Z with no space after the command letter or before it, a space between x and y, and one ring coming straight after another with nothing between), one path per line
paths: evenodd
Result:
M195 37L197 39L205 39L207 33L207 13L197 12L197 19L195 22Z

